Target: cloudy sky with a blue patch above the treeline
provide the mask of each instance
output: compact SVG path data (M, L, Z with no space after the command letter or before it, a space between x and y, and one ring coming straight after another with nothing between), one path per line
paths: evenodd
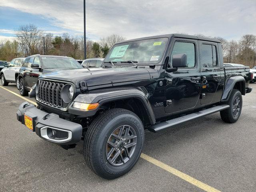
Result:
M82 35L83 0L0 0L0 41L29 23L54 35ZM256 0L86 0L86 36L92 40L170 33L228 40L256 34Z

